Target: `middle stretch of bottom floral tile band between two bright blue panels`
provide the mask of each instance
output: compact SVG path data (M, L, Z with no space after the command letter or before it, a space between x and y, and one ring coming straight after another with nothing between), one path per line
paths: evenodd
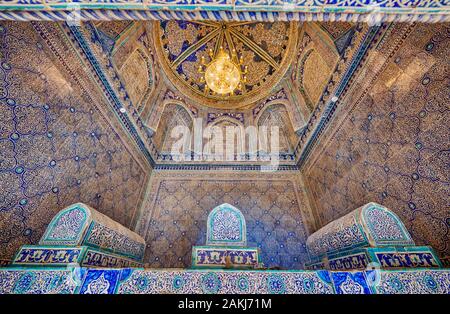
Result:
M332 294L327 272L135 270L117 293Z

